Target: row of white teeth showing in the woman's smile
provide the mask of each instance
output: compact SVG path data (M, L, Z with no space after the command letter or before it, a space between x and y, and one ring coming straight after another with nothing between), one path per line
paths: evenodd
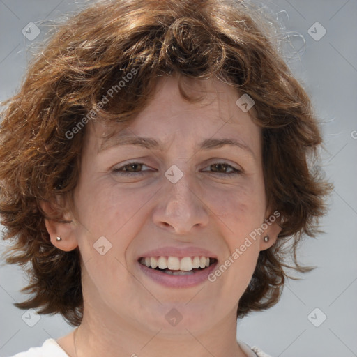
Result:
M206 268L209 266L210 259L209 257L145 257L140 261L142 264L148 268L160 268L167 269L169 268L172 271L177 272L168 272L169 274L174 273L173 275L183 275L181 272L192 271L192 269ZM176 274L178 273L178 274ZM193 272L192 272L193 273Z

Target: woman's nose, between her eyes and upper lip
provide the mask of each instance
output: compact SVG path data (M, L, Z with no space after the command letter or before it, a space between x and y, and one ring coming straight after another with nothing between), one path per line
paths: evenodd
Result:
M193 229L208 225L209 210L202 190L192 181L188 174L183 174L176 183L164 183L153 213L155 225L180 235L192 234Z

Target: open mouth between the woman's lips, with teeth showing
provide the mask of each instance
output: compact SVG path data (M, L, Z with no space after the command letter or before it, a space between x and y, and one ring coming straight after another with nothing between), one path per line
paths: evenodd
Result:
M217 262L212 257L140 257L139 264L153 271L160 271L167 275L192 275L205 271Z

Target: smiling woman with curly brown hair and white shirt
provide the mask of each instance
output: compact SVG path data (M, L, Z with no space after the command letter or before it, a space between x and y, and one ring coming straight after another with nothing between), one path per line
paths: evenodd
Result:
M1 114L7 262L31 277L17 307L78 327L17 357L266 356L236 319L278 303L283 245L316 234L330 186L264 23L241 1L104 1L31 63Z

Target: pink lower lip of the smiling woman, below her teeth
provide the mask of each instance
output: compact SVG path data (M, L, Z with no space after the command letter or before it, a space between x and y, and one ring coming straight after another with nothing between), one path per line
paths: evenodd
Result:
M137 262L139 268L142 270L146 276L149 276L155 282L165 287L195 287L196 285L202 284L208 280L208 275L214 271L217 261L204 268L203 270L195 271L193 274L189 275L169 275L163 273L162 271L157 271L155 269L148 268Z

